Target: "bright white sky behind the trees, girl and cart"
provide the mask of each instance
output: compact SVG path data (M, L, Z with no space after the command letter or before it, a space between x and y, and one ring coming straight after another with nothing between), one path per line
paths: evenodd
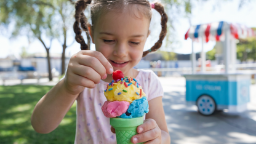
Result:
M199 1L199 3L193 5L191 14L191 25L225 21L231 23L239 23L242 25L246 25L247 27L256 27L256 1L251 1L250 4L247 4L241 9L238 8L239 1L240 0L221 2L220 5L215 7L215 9L213 9L213 6L216 6L216 1ZM154 11L152 18L152 22L154 23L150 26L152 34L146 41L145 50L150 49L150 47L153 46L154 42L158 40L157 33L158 31L160 31L161 28L160 24L158 24L160 22L159 14L156 14L156 12ZM175 18L173 24L175 28L175 39L178 43L177 46L175 46L175 48L173 49L174 52L177 52L179 54L191 54L191 39L184 39L186 31L188 31L188 28L190 28L188 18ZM71 46L66 48L66 55L76 54L80 50L79 44L77 42L73 42L74 35L72 33L73 32L71 29L68 37L68 46ZM47 42L47 45L49 45L49 42ZM212 50L214 46L215 42L210 41L207 44L204 44L204 50L207 52L209 50ZM37 39L34 39L34 41L31 41L31 43L28 44L28 39L25 36L19 36L15 39L9 39L7 36L0 34L0 58L6 58L7 55L10 54L14 54L19 57L22 51L22 47L26 47L27 52L30 54L46 52L41 42L39 42ZM94 44L92 44L91 49L95 50ZM194 42L194 52L201 52L201 49L201 43ZM57 39L52 41L50 53L62 53L62 46Z

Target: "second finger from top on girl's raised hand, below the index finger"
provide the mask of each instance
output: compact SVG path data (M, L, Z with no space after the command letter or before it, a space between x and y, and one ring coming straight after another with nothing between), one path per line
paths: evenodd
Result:
M106 75L106 69L97 58L89 55L80 55L80 57L81 60L79 60L79 64L93 68L98 74L100 74L102 79L104 78Z

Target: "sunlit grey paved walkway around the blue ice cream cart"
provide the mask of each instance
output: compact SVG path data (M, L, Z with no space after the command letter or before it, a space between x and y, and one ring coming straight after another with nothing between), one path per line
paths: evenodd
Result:
M256 143L256 85L250 86L249 111L237 115L218 112L201 116L197 107L185 105L185 78L160 78L164 111L172 143Z

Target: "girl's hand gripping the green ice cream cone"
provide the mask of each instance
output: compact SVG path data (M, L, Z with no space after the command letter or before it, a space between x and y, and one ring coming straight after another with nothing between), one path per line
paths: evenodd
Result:
M116 133L113 127L111 127L111 131ZM138 134L130 139L132 143L158 144L162 142L161 129L154 119L145 119L144 123L137 127L137 132Z

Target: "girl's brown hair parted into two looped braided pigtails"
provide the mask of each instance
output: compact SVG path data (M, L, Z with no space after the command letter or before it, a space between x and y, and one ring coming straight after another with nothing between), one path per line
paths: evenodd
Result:
M89 50L90 47L87 46L86 42L84 41L84 38L82 37L81 33L82 30L86 31L87 33L87 42L90 42L90 38L88 35L88 28L87 28L87 18L84 15L84 10L86 7L91 4L92 0L78 0L76 2L76 13L74 17L76 18L76 21L74 22L73 28L74 33L76 33L76 41L81 44L82 50ZM147 0L94 0L92 2L91 7L91 14L92 14L92 25L96 22L97 18L101 14L106 14L106 11L109 10L122 10L125 7L127 7L129 4L140 4L141 6L145 6L145 9L138 9L140 12L142 12L146 17L150 18L152 17L151 13L151 5L150 2ZM167 33L167 15L164 12L164 6L160 2L154 2L154 9L159 12L161 15L161 26L162 30L159 35L159 40L154 44L151 49L146 50L143 52L143 57L145 57L148 53L154 52L158 50L162 46L162 40L166 36ZM143 11L142 11L143 10ZM79 27L79 23L81 23L81 28Z

